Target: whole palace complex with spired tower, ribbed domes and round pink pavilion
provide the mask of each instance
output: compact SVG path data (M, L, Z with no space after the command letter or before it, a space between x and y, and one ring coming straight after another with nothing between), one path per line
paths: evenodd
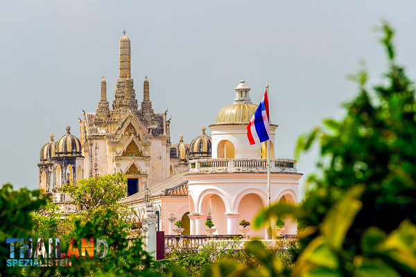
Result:
M182 220L185 235L205 234L208 216L216 234L239 234L239 222L252 222L267 204L266 144L250 145L247 137L248 122L257 109L251 102L250 87L244 81L238 84L234 102L220 109L216 121L209 125L211 136L202 127L191 143L184 142L181 135L172 145L170 119L166 111L153 111L147 77L141 107L137 104L130 52L130 39L124 33L112 109L103 78L98 109L95 113L84 111L80 119L80 139L68 129L58 144L52 137L42 147L40 188L60 195L56 202L69 207L71 199L61 190L65 182L123 172L128 177L128 195L121 204L137 211L136 220L146 216L144 195L148 189L158 229L166 234L173 233L175 220ZM231 102L232 93L230 90L224 104ZM212 118L215 114L212 111ZM297 172L296 161L275 159L276 128L270 124L271 200L297 203L302 174ZM288 218L285 222L284 233L297 233L296 222ZM251 229L248 234L265 238L266 230Z

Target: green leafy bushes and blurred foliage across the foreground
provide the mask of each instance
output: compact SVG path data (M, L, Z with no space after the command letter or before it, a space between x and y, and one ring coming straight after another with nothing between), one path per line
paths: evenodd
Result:
M62 224L35 214L47 207L39 191L17 192L6 185L0 190L2 276L416 276L415 87L395 62L392 29L384 22L381 30L388 55L385 80L367 89L367 73L361 70L354 76L358 96L345 104L345 117L324 120L324 127L297 143L297 153L314 142L320 149L318 173L309 177L304 202L275 204L254 221L258 228L271 218L296 217L295 247L270 251L251 241L236 251L211 243L200 251L177 249L169 260L156 262L141 249L140 239L128 247L128 224L112 202L69 228L75 238L107 238L106 258L76 259L72 267L59 269L6 267L6 238L31 238L33 224L47 236L50 226ZM85 207L96 207L97 201L78 199ZM42 229L44 224L49 227Z

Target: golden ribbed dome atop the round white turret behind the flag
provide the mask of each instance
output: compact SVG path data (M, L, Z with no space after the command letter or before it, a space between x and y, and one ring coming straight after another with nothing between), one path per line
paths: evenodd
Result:
M228 105L220 109L215 123L248 123L256 109L257 105L254 104Z

